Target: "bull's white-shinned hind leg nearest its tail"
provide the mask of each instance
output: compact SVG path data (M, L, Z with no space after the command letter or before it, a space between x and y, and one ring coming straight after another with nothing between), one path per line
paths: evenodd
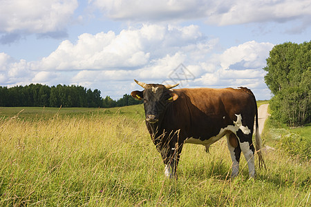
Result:
M255 148L252 142L252 133L245 135L238 130L239 144L247 161L249 177L255 177Z

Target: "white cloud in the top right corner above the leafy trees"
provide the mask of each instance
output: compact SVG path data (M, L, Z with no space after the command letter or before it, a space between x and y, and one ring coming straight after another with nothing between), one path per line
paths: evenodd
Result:
M219 26L251 22L284 22L311 16L311 3L308 0L294 1L227 1L229 9L219 10L207 17L207 23Z

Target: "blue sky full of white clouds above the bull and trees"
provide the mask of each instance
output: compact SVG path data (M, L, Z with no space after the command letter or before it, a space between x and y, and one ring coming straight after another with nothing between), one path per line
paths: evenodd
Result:
M310 0L0 0L0 86L145 83L251 89L270 99L267 57L311 40Z

